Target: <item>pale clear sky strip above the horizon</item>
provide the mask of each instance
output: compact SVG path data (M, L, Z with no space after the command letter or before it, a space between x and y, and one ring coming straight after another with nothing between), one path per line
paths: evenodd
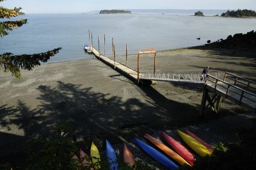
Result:
M0 6L21 7L25 13L83 13L112 9L256 10L256 0L6 0L0 2Z

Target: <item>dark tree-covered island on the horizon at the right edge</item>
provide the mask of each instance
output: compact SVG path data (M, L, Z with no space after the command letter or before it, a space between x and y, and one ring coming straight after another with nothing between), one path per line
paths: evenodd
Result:
M222 17L256 17L256 12L253 10L228 10L221 14Z

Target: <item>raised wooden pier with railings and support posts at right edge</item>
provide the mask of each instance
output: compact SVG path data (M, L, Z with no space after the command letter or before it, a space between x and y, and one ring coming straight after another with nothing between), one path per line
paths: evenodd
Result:
M227 77L227 75L232 75L232 78ZM231 79L234 82L227 82L225 79ZM243 86L239 86L239 83ZM228 72L225 73L223 80L208 75L202 97L201 114L204 114L205 107L208 106L211 107L212 111L218 112L223 98L227 98L249 111L256 112L256 94L247 90L253 84L256 84L256 82ZM210 97L210 92L214 93L213 97ZM208 102L208 105L206 105L206 102Z

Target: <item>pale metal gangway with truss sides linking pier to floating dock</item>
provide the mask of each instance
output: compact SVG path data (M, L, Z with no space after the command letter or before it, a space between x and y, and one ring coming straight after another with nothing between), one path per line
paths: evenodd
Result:
M219 78L220 73L208 72ZM140 80L204 83L202 72L140 72Z

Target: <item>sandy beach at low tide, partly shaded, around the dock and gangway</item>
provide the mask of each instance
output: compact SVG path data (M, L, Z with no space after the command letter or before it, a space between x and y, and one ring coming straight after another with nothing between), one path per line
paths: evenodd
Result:
M125 63L125 57L117 61ZM136 55L129 55L128 65L137 69ZM196 48L157 52L157 71L202 72L207 65L221 77L231 72L256 81L255 54ZM154 55L142 56L141 72L153 68ZM77 141L88 153L92 141L104 150L106 139L117 153L124 142L138 150L133 137L159 137L161 130L180 141L177 128L188 128L212 145L230 143L255 119L255 114L228 100L218 114L208 111L202 118L202 86L138 86L95 58L38 66L22 71L22 79L0 72L0 94L0 163L22 155L29 137L54 135L54 128L68 118L75 121ZM134 157L140 154L145 155L138 150Z

